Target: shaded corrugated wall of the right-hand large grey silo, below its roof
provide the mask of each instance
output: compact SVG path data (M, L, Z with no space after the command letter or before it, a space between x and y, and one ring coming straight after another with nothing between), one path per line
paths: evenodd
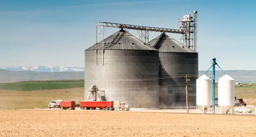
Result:
M161 66L160 77L173 76L170 79L159 79L159 107L185 107L186 81L185 74L193 75L188 82L189 106L196 105L196 79L198 78L198 53L159 53ZM175 76L182 77L175 77Z

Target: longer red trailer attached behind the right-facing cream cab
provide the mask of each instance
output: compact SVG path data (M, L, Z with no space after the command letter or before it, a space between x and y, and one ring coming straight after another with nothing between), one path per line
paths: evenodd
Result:
M80 101L80 109L115 110L114 101Z

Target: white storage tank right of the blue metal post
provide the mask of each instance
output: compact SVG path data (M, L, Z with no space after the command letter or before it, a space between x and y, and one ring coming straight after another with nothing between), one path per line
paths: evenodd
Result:
M218 80L218 105L225 111L235 105L235 80L228 75Z

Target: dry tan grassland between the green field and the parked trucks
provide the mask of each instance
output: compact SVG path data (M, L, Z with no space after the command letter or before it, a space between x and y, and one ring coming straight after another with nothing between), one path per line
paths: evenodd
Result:
M0 109L47 108L51 100L84 99L84 88L41 91L0 90Z

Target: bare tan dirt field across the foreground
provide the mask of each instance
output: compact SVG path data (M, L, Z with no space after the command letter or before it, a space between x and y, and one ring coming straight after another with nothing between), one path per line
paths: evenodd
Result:
M255 137L256 117L147 112L0 111L1 137Z

